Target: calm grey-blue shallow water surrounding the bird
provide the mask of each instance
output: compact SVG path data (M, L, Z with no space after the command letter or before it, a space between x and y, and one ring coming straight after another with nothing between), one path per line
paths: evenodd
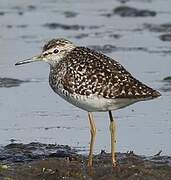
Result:
M87 152L87 114L53 93L48 86L48 65L14 66L16 61L38 54L47 40L65 37L102 51L105 45L112 45L107 46L110 51L104 49L108 56L116 57L139 80L162 93L161 98L113 112L117 151L150 155L162 150L171 155L171 88L162 81L171 75L171 44L160 39L170 29L157 31L146 26L170 22L170 0L126 3L154 10L155 17L105 16L121 5L117 0L0 0L0 4L0 78L23 81L10 88L0 86L0 144L39 141ZM56 25L47 26L49 23ZM95 113L95 121L95 152L110 151L107 113Z

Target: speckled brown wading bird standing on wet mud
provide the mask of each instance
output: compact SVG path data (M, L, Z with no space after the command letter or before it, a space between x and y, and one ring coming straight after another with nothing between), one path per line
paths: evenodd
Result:
M116 167L116 123L112 111L139 101L161 96L131 75L118 61L101 52L55 38L39 55L17 62L22 65L44 61L50 65L49 85L55 93L88 113L90 147L87 166L93 165L96 126L93 112L108 112L110 119L111 165Z

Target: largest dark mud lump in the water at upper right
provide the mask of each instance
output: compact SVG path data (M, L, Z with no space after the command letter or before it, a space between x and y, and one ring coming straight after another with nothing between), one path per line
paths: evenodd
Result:
M147 16L156 16L155 11L145 10L145 9L136 9L128 6L119 6L114 9L114 14L117 14L121 17L147 17Z

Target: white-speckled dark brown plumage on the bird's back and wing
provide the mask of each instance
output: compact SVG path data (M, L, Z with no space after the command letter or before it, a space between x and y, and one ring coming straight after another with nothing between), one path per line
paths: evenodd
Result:
M104 98L154 98L159 93L135 79L117 61L85 47L76 47L55 67L50 84L68 93Z

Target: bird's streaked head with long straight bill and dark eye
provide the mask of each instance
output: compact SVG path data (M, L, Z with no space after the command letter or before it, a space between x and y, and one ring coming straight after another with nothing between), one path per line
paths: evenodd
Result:
M66 39L52 39L43 46L43 51L41 54L23 61L19 61L15 65L21 65L36 61L45 61L51 66L54 66L74 48L75 45Z

